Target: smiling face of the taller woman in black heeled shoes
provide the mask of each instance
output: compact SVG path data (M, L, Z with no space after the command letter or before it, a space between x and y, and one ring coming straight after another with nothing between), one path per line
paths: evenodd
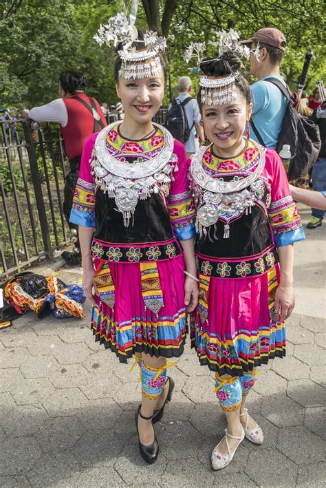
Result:
M124 120L132 118L138 123L148 123L162 105L164 72L150 78L126 80L116 84L118 97L124 108Z

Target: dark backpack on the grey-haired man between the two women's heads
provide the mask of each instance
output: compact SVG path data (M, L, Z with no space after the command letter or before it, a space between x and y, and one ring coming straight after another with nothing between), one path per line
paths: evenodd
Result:
M184 109L190 100L193 100L192 96L188 96L183 102L178 98L173 100L171 109L169 109L164 123L164 127L171 132L175 139L180 140L182 143L187 142L191 134L191 129L193 129L193 126L195 125L195 123L193 123L193 125L189 127L186 110Z

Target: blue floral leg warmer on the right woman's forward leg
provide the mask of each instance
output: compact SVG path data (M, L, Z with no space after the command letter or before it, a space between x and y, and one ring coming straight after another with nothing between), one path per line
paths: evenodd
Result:
M217 399L219 399L219 405L221 405L222 410L231 412L241 407L242 388L239 376L225 379L216 373L215 385L214 392L216 393Z

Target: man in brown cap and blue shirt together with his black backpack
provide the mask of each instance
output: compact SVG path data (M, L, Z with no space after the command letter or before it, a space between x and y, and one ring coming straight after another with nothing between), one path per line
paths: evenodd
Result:
M259 59L253 54L250 56L250 73L258 78L251 85L250 137L265 147L276 149L287 163L289 180L299 178L316 161L321 142L316 124L301 117L294 108L298 100L280 74L285 36L276 28L263 28L251 39L241 42L250 50L259 50Z

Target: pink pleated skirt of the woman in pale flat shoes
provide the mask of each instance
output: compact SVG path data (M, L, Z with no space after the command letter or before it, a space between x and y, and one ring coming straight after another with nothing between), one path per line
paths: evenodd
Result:
M209 279L207 318L195 312L191 341L210 370L242 376L276 356L285 356L284 322L274 317L279 265L263 275Z

